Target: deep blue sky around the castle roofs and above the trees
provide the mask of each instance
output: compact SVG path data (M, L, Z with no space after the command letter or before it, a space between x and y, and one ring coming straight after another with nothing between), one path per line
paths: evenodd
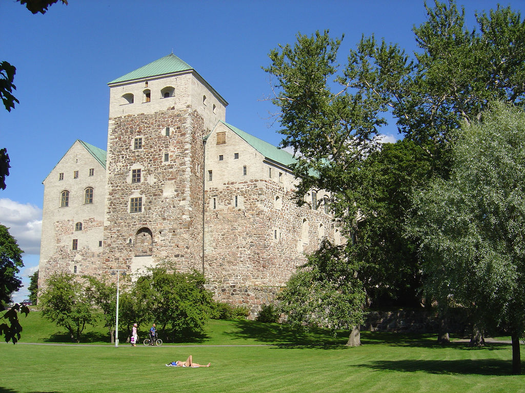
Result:
M267 54L293 43L297 32L344 34L340 61L361 35L375 34L416 50L412 27L426 19L422 0L397 1L160 1L69 0L33 15L14 0L0 2L0 61L17 68L10 113L0 110L0 148L12 168L0 190L0 223L25 250L24 282L38 267L41 184L76 139L107 148L113 79L172 51L229 103L226 121L274 145L280 142ZM429 3L432 1L429 0ZM497 2L459 1L469 28L475 10ZM522 0L503 6L525 14ZM395 138L395 127L384 134ZM24 288L14 296L27 298Z

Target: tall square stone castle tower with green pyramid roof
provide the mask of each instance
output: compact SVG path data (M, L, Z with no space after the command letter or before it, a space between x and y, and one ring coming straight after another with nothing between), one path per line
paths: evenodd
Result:
M227 102L173 53L109 87L102 268L200 269L203 138Z

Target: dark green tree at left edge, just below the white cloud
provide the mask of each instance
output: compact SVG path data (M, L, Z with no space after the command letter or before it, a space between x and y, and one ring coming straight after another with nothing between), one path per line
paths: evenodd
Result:
M22 286L22 280L17 277L24 267L22 253L8 228L0 224L0 304L8 303L11 293Z

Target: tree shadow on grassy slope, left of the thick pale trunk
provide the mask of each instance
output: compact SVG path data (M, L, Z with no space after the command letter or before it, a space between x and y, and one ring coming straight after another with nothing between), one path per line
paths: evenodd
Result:
M249 320L233 321L236 330L226 333L238 339L251 339L261 344L271 344L282 348L345 348L349 332L341 331L336 336L324 329L312 328L308 331L292 329L291 326L277 323L262 323Z

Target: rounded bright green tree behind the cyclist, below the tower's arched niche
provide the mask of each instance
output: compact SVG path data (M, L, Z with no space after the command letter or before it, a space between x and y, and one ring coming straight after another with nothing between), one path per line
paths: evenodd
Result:
M204 283L198 271L180 273L172 264L164 263L137 280L134 296L146 305L162 330L172 329L175 339L177 335L203 332L212 300Z

